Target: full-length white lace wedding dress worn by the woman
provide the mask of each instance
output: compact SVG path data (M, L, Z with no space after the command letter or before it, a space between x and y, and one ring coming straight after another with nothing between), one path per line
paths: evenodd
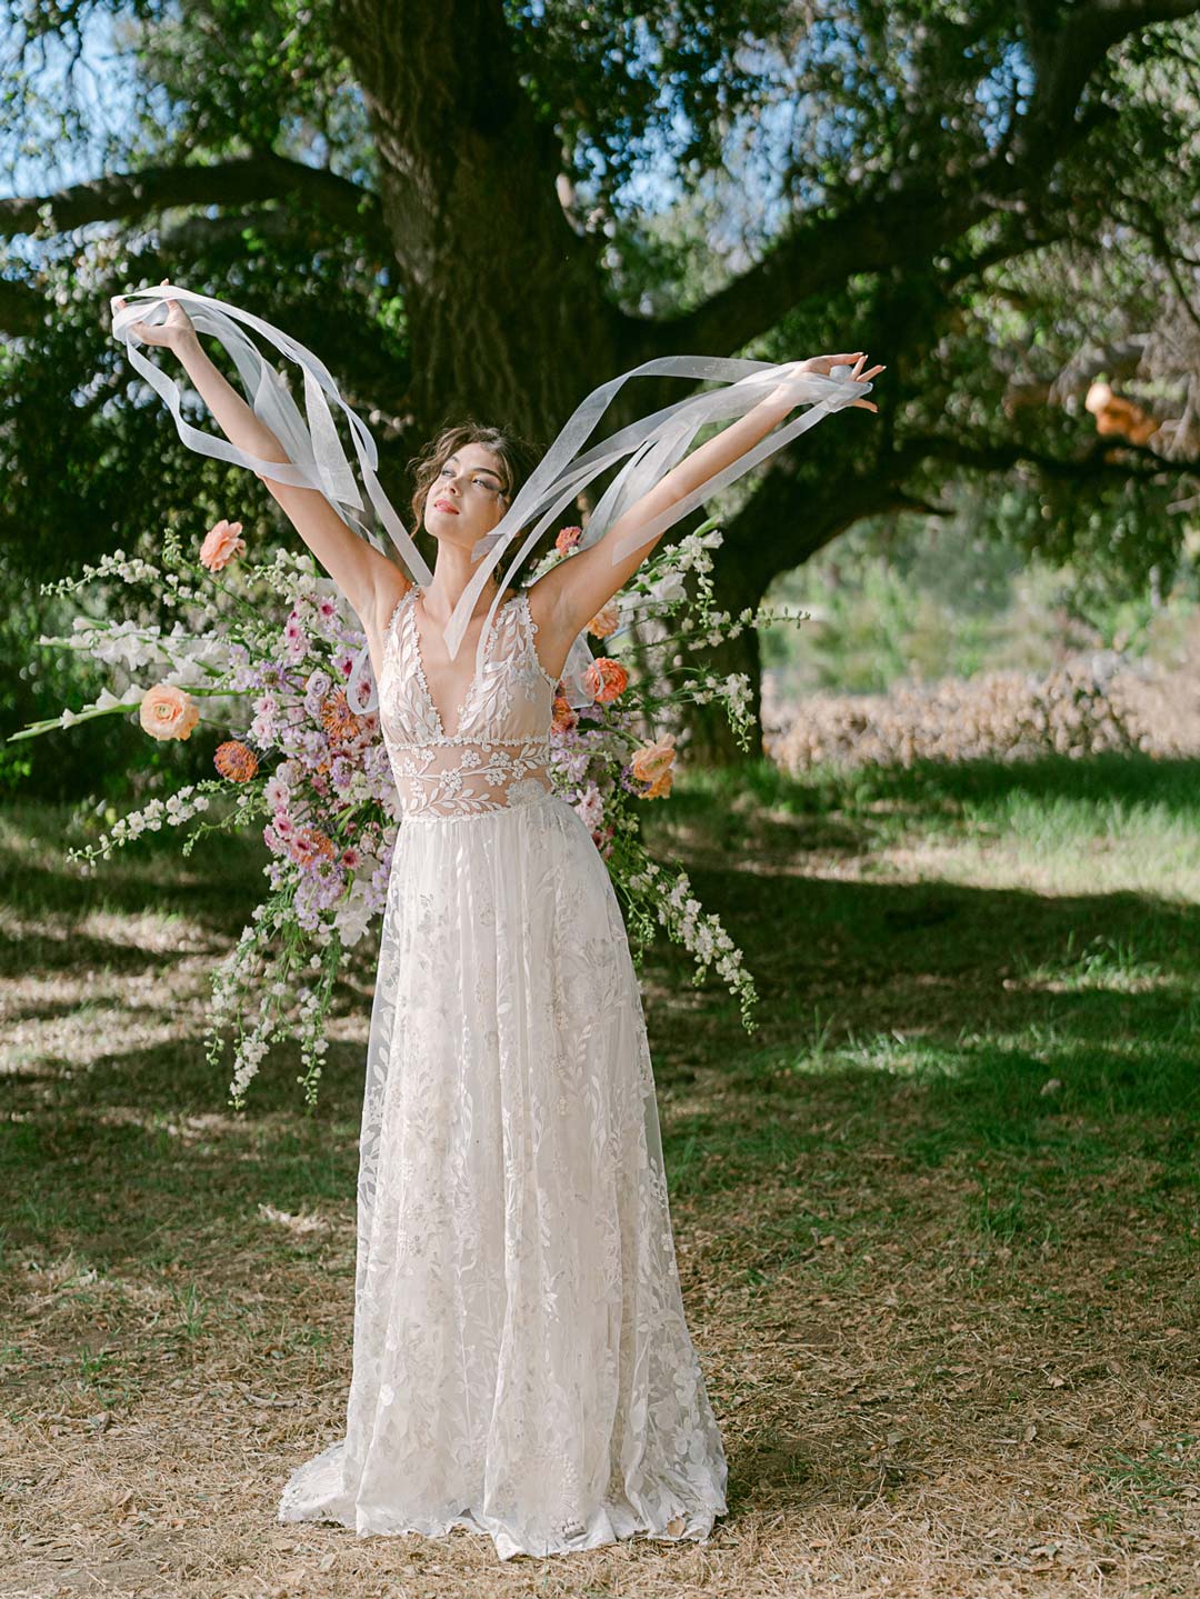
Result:
M360 1146L345 1434L280 1521L491 1535L502 1559L706 1538L725 1455L684 1319L641 991L607 867L550 790L524 592L452 734L417 587L383 640L404 819Z

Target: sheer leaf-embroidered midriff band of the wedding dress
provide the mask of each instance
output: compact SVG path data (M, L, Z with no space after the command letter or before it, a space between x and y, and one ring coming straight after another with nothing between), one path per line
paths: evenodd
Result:
M406 820L507 811L550 793L550 740L399 744L391 771Z

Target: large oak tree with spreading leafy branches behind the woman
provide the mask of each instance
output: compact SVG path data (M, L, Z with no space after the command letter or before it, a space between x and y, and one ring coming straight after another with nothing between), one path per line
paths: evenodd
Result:
M548 441L650 357L866 349L880 416L826 422L722 504L733 611L861 518L936 513L965 473L1027 483L1007 531L1031 545L1170 566L1200 456L1200 0L109 8L136 123L99 179L0 201L14 568L227 504L105 344L107 296L163 275L310 344L401 513L404 462L449 417ZM104 10L13 8L26 147L91 133L70 75L30 69ZM1098 435L1098 376L1158 382L1173 425ZM639 379L606 430L679 397ZM757 684L753 633L721 656ZM690 732L735 758L722 720Z

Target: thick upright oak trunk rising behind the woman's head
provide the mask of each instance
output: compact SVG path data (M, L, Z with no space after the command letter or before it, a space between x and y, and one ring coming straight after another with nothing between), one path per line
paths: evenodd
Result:
M502 11L347 0L340 16L404 285L406 429L423 443L473 417L550 443L546 417L566 421L617 369L626 318L602 293L606 238L562 209L562 154L518 83Z

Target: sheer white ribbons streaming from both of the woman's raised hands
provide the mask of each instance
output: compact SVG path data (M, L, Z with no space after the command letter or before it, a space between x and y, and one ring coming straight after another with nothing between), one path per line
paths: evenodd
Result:
M292 483L304 488L315 488L326 496L347 524L358 523L364 534L371 537L372 542L377 542L369 528L363 526L358 518L352 518L344 510L344 507L361 510L363 502L358 496L353 472L337 437L329 405L324 398L324 395L329 393L347 414L360 467L368 484L368 492L375 510L379 512L380 520L383 521L383 526L391 534L396 548L415 576L417 582L431 582L433 574L422 560L420 552L414 545L404 524L379 484L375 477L379 456L374 438L337 392L337 385L323 363L310 350L307 350L302 344L297 344L294 339L289 339L270 323L252 317L249 312L238 310L235 305L225 305L221 301L214 301L206 294L195 294L190 289L160 285L153 289L133 289L126 297L133 296L153 301L155 310L161 305L163 317L166 315L168 297L185 301L195 307L192 320L197 329L211 333L227 347L238 368L238 374L241 376L246 392L251 397L256 416L259 416L280 440L291 465L276 461L259 461L246 451L238 449L235 445L227 443L224 438L214 438L198 429L189 427L179 414L179 387L157 366L139 357L133 349L136 334L129 333L128 325L134 320L152 321L152 315L145 315L144 307L118 307L113 299L113 337L125 341L134 368L142 373L147 382L150 382L152 387L157 389L166 400L171 414L174 416L176 430L189 448L197 449L201 454L214 456L219 461L246 465L264 478L273 478L280 483ZM297 361L297 365L304 369L305 406L308 413L307 429L280 374L267 361L264 361L259 350L241 333L241 329L236 328L232 318L244 321L249 328L262 334L270 344L281 350L289 360ZM554 521L562 507L574 502L578 492L591 483L594 477L614 465L623 456L628 456L630 459L601 496L596 508L588 518L588 526L585 528L577 548L588 548L590 545L599 542L631 505L634 505L644 494L660 483L671 467L674 467L682 456L687 454L692 440L703 425L745 416L746 411L751 411L769 393L780 387L786 387L788 397L793 398L794 405L810 405L809 411L802 413L794 421L786 422L786 425L777 427L773 432L767 433L757 445L738 456L737 461L725 465L721 472L713 473L713 477L697 484L697 488L693 488L689 494L681 496L673 505L668 505L657 516L639 523L622 537L614 539L614 566L631 550L641 548L657 539L660 532L673 526L719 489L725 488L725 484L743 477L743 473L749 472L751 467L757 465L757 462L765 456L773 454L783 445L789 443L789 440L807 432L807 429L813 427L831 413L853 405L855 400L861 400L872 389L872 384L860 382L850 376L848 366L834 368L834 374L828 377L820 373L799 373L799 361L777 365L735 357L666 355L650 361L642 361L641 366L634 366L620 377L614 377L609 382L601 384L598 389L593 389L593 392L575 408L546 454L521 486L516 499L510 504L503 518L491 532L484 534L484 537L478 539L473 545L471 560L478 561L478 571L471 574L470 582L467 584L462 596L451 612L449 622L446 624L444 636L449 657L454 659L459 652L463 633L489 574L500 563L508 545L516 540L521 528L532 521L527 536L521 542L505 571L503 582L499 585L497 593L492 598L487 619L479 633L475 670L476 675L483 672L492 619L500 604L500 596L508 588L510 580L521 561L538 542L546 528ZM724 384L724 387L687 395L682 400L663 406L660 411L639 417L628 427L620 429L610 438L580 454L583 443L591 435L599 417L604 411L607 411L622 384L628 382L631 377L641 376L713 379ZM585 675L591 660L593 657L586 643L586 630L583 630L574 640L561 673L566 697L574 707L590 705L593 702L594 696L585 684ZM348 697L352 691L358 689L358 683L364 670L369 670L366 646L360 651L355 660L350 683L347 684ZM350 704L355 705L360 702L352 699ZM377 688L372 683L371 697L361 708L371 710L375 704Z

